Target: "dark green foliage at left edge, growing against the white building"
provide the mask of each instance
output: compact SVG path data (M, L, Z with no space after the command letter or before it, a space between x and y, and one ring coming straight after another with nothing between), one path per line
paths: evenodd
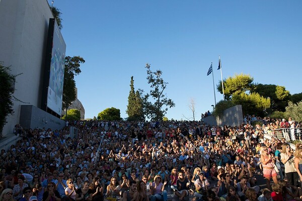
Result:
M7 123L7 116L13 115L13 93L15 92L15 76L10 74L10 67L5 67L0 62L0 133Z

